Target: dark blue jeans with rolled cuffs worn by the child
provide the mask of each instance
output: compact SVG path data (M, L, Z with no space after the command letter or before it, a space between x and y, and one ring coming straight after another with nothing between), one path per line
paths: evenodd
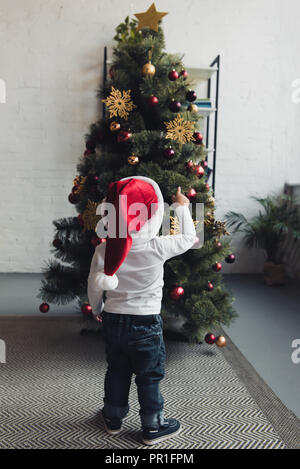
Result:
M159 383L165 375L166 356L160 314L103 311L102 319L108 363L104 415L123 419L128 414L128 395L135 374L142 426L157 428L164 420Z

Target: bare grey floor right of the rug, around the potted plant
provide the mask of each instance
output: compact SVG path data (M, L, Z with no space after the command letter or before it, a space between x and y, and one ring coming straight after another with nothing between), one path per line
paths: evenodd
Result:
M291 358L292 342L300 340L299 282L265 287L260 275L238 274L225 276L225 282L239 314L225 331L279 399L300 417L300 363Z

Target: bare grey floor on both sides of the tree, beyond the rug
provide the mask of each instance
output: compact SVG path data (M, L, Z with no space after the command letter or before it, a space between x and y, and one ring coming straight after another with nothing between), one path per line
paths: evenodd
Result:
M41 274L0 274L0 315L40 316L36 298ZM239 350L300 417L300 363L292 362L292 341L300 339L300 284L265 287L259 275L226 275L239 318L224 328ZM47 316L77 312L77 305L51 306ZM0 331L1 338L1 331ZM300 356L300 353L299 353Z

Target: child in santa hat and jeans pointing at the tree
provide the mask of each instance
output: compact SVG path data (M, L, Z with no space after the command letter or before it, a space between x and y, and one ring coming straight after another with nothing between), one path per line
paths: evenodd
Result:
M119 204L120 196L126 196L127 203ZM164 417L164 399L159 390L165 373L160 316L163 265L190 249L196 232L188 209L189 200L180 187L172 198L181 234L157 236L164 214L164 201L157 183L142 176L111 183L105 200L116 209L116 237L108 237L96 247L88 278L89 302L94 315L102 316L106 344L108 368L102 409L105 429L111 435L121 431L122 419L129 411L128 395L135 374L146 445L173 437L181 429L176 419ZM137 211L129 209L132 203L146 207L138 218ZM108 215L108 233L111 220ZM127 233L123 237L118 236L120 220L126 224Z

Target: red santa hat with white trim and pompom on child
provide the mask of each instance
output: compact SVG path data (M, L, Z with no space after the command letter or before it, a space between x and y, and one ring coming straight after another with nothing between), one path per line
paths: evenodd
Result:
M116 272L126 259L132 246L132 238L149 240L159 232L164 213L164 200L155 181L144 176L134 176L112 182L105 202L115 207L116 237L107 238L104 272L96 275L95 283L102 290L113 290L118 286ZM143 204L144 209L139 211L137 208L136 211L133 207L130 211L131 204L135 203Z

